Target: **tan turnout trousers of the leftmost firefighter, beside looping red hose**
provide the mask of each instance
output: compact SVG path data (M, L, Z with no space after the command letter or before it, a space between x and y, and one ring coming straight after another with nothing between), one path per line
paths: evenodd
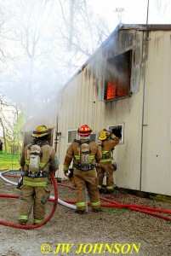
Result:
M50 191L48 191L47 187L23 185L20 189L19 220L23 219L23 216L29 216L33 207L34 219L36 222L42 222L45 216L45 205L49 196Z

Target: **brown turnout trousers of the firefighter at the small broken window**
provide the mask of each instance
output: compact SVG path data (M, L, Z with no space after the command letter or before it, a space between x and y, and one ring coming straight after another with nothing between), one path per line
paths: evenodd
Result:
M106 175L106 188L114 189L114 179L113 179L113 166L111 162L99 163L97 166L97 177L99 181L99 188L103 185L103 179Z

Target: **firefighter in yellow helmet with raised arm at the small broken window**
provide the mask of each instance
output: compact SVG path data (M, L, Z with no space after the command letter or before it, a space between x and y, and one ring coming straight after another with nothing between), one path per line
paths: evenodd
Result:
M98 176L98 189L100 193L103 193L102 185L103 179L106 175L106 194L111 194L114 191L114 180L113 171L114 166L111 164L112 161L112 150L119 143L119 138L116 137L111 131L100 131L99 136L102 159L97 164L97 176Z

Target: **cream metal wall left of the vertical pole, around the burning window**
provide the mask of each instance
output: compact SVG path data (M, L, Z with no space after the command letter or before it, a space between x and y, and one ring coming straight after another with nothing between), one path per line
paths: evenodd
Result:
M123 123L124 143L117 145L114 150L117 161L115 183L127 189L140 189L142 85L140 85L140 72L137 70L141 62L142 38L143 32L134 30L121 31L117 35L117 42L111 37L109 44L100 49L82 72L78 73L62 91L59 108L59 131L62 136L58 147L60 177L63 176L62 164L68 147L67 130L75 130L80 125L87 124L94 133L99 133L108 125ZM131 78L132 90L136 93L118 101L104 102L100 96L104 94L105 61L128 49L133 49L134 58L139 60L133 65L132 73L135 75Z

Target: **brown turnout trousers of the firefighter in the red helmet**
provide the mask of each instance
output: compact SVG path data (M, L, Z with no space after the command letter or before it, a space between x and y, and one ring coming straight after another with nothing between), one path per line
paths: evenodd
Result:
M100 194L96 170L81 171L74 170L74 182L76 184L77 209L85 209L85 186L88 190L91 207L100 207Z

